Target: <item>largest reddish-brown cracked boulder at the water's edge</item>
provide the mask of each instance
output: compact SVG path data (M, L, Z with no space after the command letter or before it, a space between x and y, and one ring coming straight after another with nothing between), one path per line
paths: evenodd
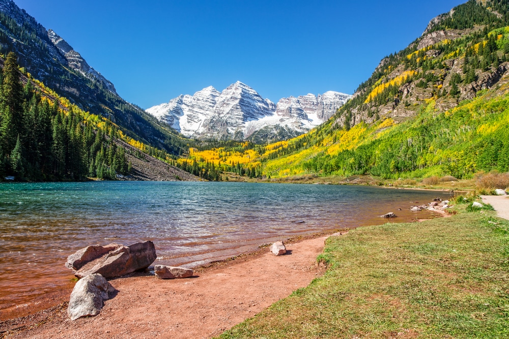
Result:
M115 278L150 266L156 260L156 249L152 241L125 246L110 243L105 246L87 246L67 258L66 267L74 275L83 278L99 273L105 278Z

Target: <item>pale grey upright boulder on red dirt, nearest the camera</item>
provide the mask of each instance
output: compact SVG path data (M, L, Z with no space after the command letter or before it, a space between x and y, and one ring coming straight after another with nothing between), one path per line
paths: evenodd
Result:
M90 274L79 280L71 293L67 315L71 320L97 316L115 288L101 274Z

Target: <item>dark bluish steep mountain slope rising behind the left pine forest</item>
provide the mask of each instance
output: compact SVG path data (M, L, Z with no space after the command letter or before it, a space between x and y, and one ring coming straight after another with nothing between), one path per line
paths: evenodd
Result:
M9 51L34 78L81 109L111 119L129 136L175 154L187 149L187 140L119 97L115 86L55 32L13 1L0 0L0 53Z

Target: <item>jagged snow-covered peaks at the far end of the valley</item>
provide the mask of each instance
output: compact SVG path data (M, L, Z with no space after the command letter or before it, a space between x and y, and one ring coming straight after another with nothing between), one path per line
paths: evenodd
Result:
M222 92L210 86L147 109L183 135L201 139L274 141L305 133L330 118L349 95L329 91L274 104L237 81Z

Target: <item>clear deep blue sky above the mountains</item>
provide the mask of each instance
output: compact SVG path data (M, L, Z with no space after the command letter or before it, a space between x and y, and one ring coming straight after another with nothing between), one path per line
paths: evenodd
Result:
M14 0L129 102L240 80L263 98L353 94L385 55L466 0Z

